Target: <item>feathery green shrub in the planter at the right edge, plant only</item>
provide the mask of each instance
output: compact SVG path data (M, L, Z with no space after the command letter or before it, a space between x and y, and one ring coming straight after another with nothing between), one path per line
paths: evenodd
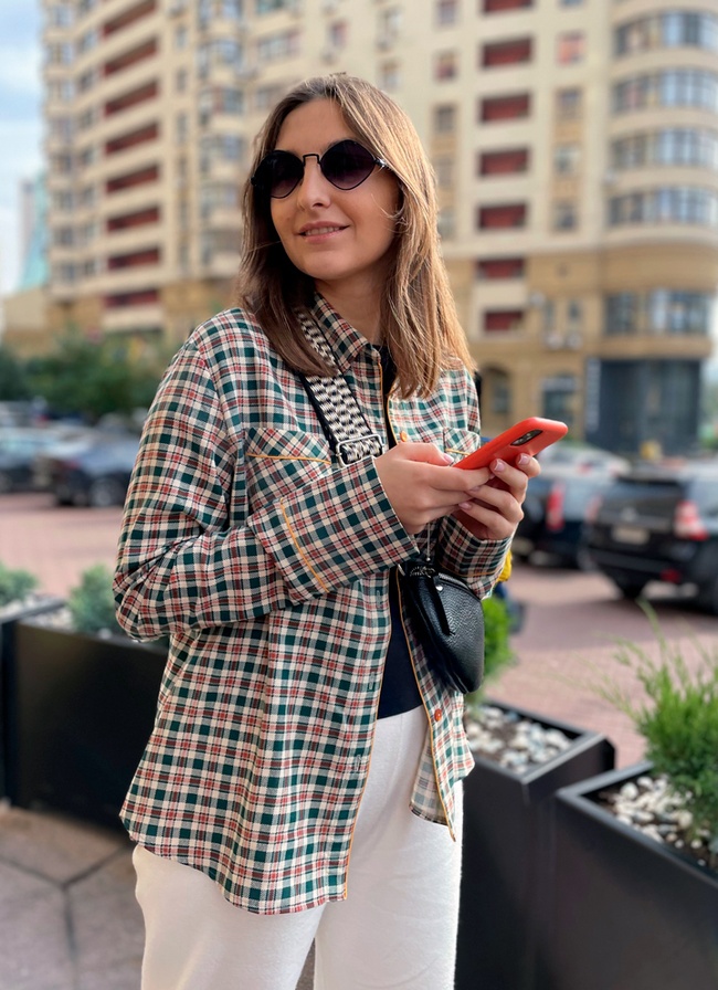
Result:
M667 642L653 610L641 603L658 643L658 659L629 640L617 640L615 660L631 667L646 694L632 702L610 678L599 693L624 712L646 740L646 758L680 793L693 814L694 835L707 831L718 865L718 651L695 638L698 663L689 667L682 649Z

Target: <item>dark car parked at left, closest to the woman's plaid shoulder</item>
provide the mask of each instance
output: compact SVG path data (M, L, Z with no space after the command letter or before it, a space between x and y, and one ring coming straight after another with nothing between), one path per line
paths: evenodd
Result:
M139 449L139 438L97 434L66 444L42 459L42 481L57 505L122 505Z

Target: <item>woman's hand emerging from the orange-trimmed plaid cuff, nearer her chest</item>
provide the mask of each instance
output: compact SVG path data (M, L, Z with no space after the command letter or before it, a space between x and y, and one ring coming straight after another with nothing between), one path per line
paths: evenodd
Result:
M452 461L433 443L398 443L374 461L387 497L406 533L421 533L434 519L457 513L461 505L468 505L490 484L493 475L487 467L464 471L450 467Z

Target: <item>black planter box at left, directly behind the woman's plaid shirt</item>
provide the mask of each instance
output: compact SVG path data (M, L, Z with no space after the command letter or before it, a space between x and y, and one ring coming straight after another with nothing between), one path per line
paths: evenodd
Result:
M7 792L119 826L167 650L18 622L7 664Z

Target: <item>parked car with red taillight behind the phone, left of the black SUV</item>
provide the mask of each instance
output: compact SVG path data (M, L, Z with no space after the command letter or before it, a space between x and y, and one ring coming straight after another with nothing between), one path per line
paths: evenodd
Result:
M557 451L560 447L561 443L555 444ZM551 455L545 465L543 454L549 450L552 449L539 456L541 474L529 482L514 551L529 560L541 552L569 567L587 568L590 566L585 548L587 516L595 499L619 472L629 470L630 463L594 447L573 461L570 455L566 459Z

